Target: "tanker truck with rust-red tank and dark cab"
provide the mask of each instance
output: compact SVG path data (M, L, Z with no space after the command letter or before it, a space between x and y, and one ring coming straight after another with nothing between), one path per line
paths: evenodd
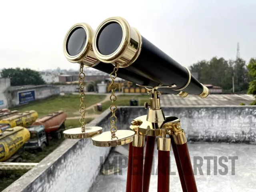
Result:
M44 150L49 144L50 138L61 139L62 132L65 130L66 118L67 114L60 110L36 120L27 127L30 131L30 140L26 142L25 148Z

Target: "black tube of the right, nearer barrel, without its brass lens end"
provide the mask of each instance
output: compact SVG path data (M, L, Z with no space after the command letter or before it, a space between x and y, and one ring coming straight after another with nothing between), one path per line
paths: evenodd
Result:
M174 90L184 87L189 79L189 73L186 68L178 64L143 36L140 55L126 69L164 85L176 84L176 87L173 88ZM203 89L202 84L191 75L190 84L182 91L199 95Z

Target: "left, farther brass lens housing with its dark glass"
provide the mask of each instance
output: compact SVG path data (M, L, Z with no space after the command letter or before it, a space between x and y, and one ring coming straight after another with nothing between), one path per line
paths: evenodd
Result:
M80 62L86 67L93 67L100 61L92 49L93 31L86 23L74 24L67 32L63 52L69 62Z

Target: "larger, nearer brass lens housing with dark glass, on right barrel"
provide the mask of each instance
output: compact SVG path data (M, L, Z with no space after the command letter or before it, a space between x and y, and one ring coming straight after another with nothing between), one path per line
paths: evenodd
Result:
M138 58L142 37L124 18L111 17L104 20L96 29L92 47L100 61L117 63L123 68Z

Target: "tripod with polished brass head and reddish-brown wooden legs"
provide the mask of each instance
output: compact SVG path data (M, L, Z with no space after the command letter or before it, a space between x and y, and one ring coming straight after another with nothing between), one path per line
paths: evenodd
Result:
M172 146L183 192L197 192L190 155L180 120L174 116L165 117L160 108L157 88L150 91L152 98L148 114L132 121L130 128L136 132L129 146L126 192L148 192L153 163L156 136L158 149L158 192L169 192L170 149ZM169 135L169 137L167 137ZM144 140L146 154L144 157Z

